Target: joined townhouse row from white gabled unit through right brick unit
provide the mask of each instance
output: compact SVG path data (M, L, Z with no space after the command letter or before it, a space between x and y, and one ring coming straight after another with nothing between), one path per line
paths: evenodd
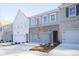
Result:
M28 16L18 12L13 42L39 44L79 43L79 4L63 3L57 9Z

